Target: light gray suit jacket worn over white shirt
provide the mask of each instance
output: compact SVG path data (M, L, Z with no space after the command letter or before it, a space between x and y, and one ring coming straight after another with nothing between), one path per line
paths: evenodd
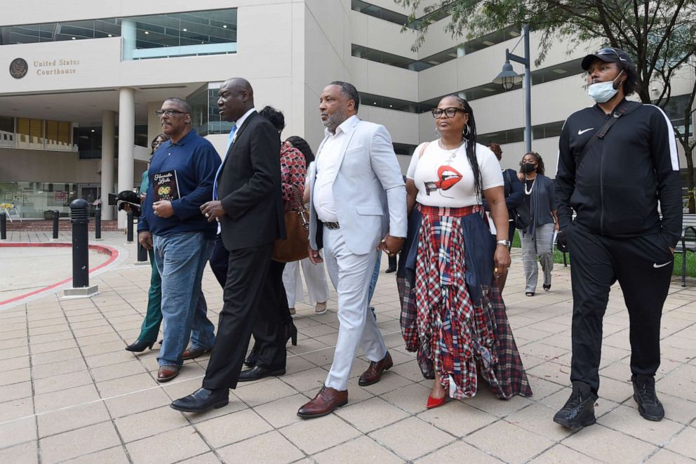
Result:
M319 145L316 159L328 135ZM333 182L333 197L343 237L350 251L373 251L387 234L406 237L406 185L384 126L356 119L346 131ZM323 227L314 211L316 162L309 168L309 244L323 246Z

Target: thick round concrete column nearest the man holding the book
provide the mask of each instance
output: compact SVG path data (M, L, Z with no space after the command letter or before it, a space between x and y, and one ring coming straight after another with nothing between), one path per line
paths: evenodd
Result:
M135 145L135 89L119 89L119 192L133 189ZM119 229L126 227L126 212L119 211Z

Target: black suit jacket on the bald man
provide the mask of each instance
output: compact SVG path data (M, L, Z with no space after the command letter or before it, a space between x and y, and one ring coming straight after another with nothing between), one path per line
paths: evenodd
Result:
M220 218L227 250L252 248L284 239L280 137L257 112L237 129L217 179L217 197L225 208Z

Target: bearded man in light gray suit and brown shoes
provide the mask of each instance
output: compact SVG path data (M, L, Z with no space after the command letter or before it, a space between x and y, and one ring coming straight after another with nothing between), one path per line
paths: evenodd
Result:
M326 136L309 169L309 260L324 258L338 292L338 340L324 386L297 416L326 416L348 402L348 376L359 346L370 367L359 385L391 368L391 355L368 310L370 278L380 251L395 256L406 237L406 187L384 126L356 116L358 91L334 81L321 93Z

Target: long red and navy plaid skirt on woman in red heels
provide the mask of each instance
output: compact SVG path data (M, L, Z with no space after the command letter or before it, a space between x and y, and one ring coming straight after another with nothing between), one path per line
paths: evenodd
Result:
M405 289L403 279L399 282L399 291L406 298L402 300L402 312L408 310L409 304L415 305L414 323L403 326L406 347L417 351L426 378L433 378L434 371L439 373L450 397L476 395L479 371L496 397L531 396L497 286L494 283L484 287L478 305L469 297L465 279L467 237L461 221L472 213L483 221L481 206L417 206L422 223L417 241L415 289Z

